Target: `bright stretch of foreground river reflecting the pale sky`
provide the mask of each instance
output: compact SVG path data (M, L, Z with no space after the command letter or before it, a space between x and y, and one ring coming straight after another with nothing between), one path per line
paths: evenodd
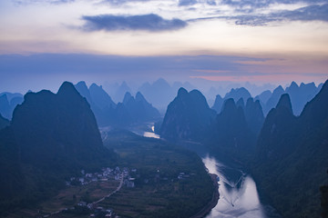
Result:
M251 176L219 163L209 155L203 157L202 161L210 173L216 173L220 177L220 200L207 218L266 217Z

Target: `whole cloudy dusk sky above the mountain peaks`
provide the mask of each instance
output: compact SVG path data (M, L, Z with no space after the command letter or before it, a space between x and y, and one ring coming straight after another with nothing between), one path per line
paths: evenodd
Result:
M0 92L328 78L328 0L1 0L0 33Z

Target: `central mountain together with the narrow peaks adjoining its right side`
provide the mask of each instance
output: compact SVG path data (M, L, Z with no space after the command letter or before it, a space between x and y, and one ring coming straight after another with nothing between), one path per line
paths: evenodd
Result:
M259 134L264 122L260 101L254 102L246 89L233 90L226 96L235 96L239 100L235 103L233 98L222 99L218 95L223 106L217 114L210 109L200 91L192 90L188 93L180 88L177 97L168 106L159 134L173 141L192 139L201 142L210 138L212 142L223 146L234 144L236 149L244 147L237 144L250 144L254 141L254 147L255 140L251 138ZM246 104L243 97L249 97Z

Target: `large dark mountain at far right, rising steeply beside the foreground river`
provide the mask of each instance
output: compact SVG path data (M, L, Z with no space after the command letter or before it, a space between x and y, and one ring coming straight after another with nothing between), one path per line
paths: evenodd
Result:
M253 173L283 216L315 217L320 214L327 154L328 81L299 117L292 114L289 94L282 94L261 129Z

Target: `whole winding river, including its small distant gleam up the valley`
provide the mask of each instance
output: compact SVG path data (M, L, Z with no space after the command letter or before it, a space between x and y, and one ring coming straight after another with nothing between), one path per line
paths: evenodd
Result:
M144 132L146 137L159 138L153 128ZM213 156L201 144L183 144L200 155L210 173L219 176L220 199L206 218L280 218L281 215L268 204L261 203L256 183L239 163L223 156Z

